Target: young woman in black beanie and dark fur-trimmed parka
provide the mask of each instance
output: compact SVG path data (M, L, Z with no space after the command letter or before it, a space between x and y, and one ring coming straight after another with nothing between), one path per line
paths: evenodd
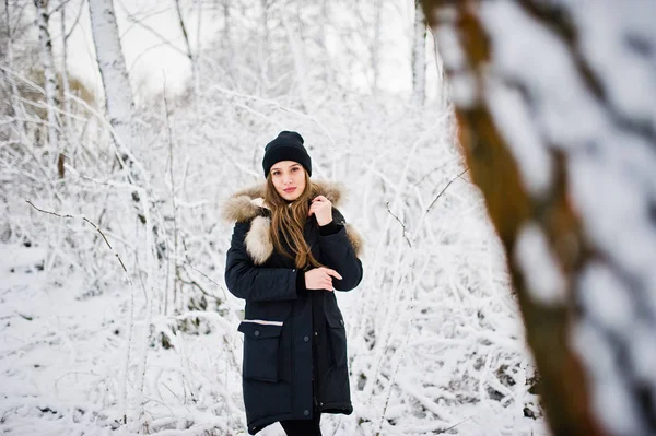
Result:
M335 208L331 182L312 181L296 132L265 148L266 181L233 195L236 222L225 283L246 301L243 390L248 433L280 422L288 435L320 435L321 413L353 411L344 321L333 291L362 280L358 234Z

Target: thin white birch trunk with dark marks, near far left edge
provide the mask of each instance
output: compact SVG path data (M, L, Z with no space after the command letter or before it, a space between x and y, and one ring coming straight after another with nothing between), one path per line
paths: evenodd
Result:
M48 0L34 0L36 7L36 25L38 27L38 42L40 56L44 63L44 89L46 91L46 105L48 114L48 140L52 150L59 150L59 131L57 129L57 74L55 73L55 59L52 56L52 39L48 30Z

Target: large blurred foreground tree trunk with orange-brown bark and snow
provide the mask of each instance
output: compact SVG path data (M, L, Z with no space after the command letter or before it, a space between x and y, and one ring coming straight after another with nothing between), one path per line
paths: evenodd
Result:
M656 3L422 3L553 434L656 434Z

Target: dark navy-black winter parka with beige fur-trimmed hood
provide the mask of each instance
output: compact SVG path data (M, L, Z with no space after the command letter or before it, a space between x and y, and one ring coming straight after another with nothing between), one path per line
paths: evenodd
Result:
M313 198L332 203L332 223L307 219L305 240L319 262L336 270L337 291L351 291L362 280L362 239L337 209L343 187L313 180ZM304 271L274 251L269 235L270 210L263 207L265 184L233 195L224 215L235 222L226 255L229 291L246 301L242 381L248 433L282 420L353 411L347 365L347 334L333 292L306 290Z

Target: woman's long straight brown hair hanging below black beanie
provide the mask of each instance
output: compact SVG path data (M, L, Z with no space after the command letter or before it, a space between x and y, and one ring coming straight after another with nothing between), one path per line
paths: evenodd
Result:
M304 172L304 174L305 189L291 203L280 197L276 190L271 173L267 175L267 189L265 190L265 202L271 209L271 226L269 232L271 233L273 247L284 256L294 259L294 263L298 269L305 269L309 266L315 268L324 267L312 256L303 236L305 221L308 219L309 202L318 195L317 186L309 180L307 172ZM281 235L292 252L283 248Z

